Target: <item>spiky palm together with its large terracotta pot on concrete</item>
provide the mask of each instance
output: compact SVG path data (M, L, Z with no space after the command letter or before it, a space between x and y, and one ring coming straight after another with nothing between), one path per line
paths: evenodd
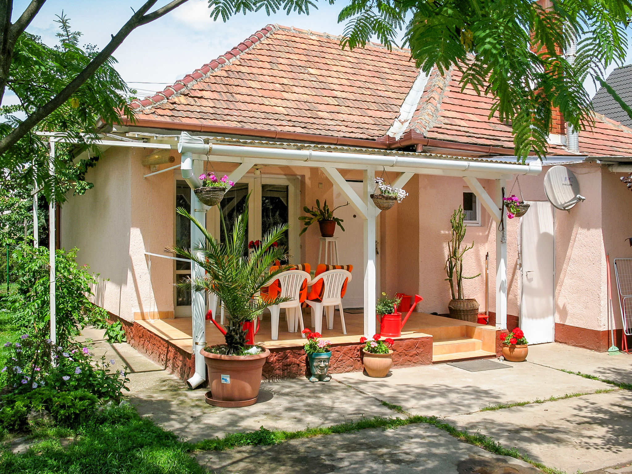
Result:
M248 202L248 198L246 198ZM284 246L274 245L288 225L277 226L265 234L257 248L248 252L247 229L248 207L236 217L232 231L224 228L225 242L217 241L206 230L204 224L179 207L178 213L195 224L204 234L204 241L191 248L174 247L171 252L190 258L205 270L204 277L188 279L179 288L195 291L212 291L222 300L226 309L227 324L222 329L225 344L207 346L200 351L209 371L210 391L207 403L214 406L248 406L257 402L262 368L270 351L261 346L248 344L246 336L249 326L270 305L283 303L287 298L263 300L257 293L263 286L274 281L280 267L272 272L270 265L276 260L286 259ZM252 343L254 341L251 341Z

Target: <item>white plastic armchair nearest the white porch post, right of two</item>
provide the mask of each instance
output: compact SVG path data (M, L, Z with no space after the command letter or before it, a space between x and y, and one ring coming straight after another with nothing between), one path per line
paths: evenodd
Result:
M324 309L327 315L327 329L334 329L334 310L338 307L340 310L340 322L343 324L343 334L346 334L343 298L341 298L340 293L343 289L344 281L351 281L351 272L342 269L327 270L315 277L310 285L321 279L323 282L322 300L305 300L305 303L312 307L312 325L316 332L322 333L322 312Z

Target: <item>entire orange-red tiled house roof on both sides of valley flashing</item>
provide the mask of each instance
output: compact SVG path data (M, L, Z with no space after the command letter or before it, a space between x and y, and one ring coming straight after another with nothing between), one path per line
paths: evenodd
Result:
M339 143L331 140L337 137L398 147L387 131L418 76L410 51L373 43L349 51L341 49L340 40L268 25L131 106L137 119L156 128L214 126L233 135L291 140L281 133L303 133L308 135L296 140ZM489 118L493 98L470 86L461 91L460 79L455 68L446 75L432 71L404 137L408 131L430 140L494 147L490 154L512 154L511 126ZM550 145L549 154L572 155L561 145ZM580 154L632 155L632 130L597 114L580 133Z

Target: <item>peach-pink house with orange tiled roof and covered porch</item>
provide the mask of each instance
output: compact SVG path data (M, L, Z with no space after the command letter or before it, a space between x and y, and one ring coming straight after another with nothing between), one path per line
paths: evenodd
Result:
M204 321L204 295L174 287L191 274L190 262L164 249L198 238L176 206L219 236L218 208L191 193L198 174L214 171L236 182L224 197L227 217L252 191L250 240L271 223L289 222L291 263L319 260L317 229L298 235L303 206L351 204L337 211L346 232L336 233L339 264L355 268L343 300L348 334L337 321L324 332L334 343L334 372L361 370L358 337L376 331L382 291L423 296L396 341L395 365L495 356L497 332L516 325L532 343L606 350L605 252L630 254L624 238L632 206L619 177L632 160L632 130L596 114L578 146L567 147L558 116L545 161L522 164L511 127L489 118L489 97L461 92L457 70L425 75L406 50L371 43L349 51L339 42L269 25L132 102L134 121L102 124L102 155L87 174L94 189L61 211L62 245L80 248L80 263L102 278L97 304L125 322L132 344L182 377L204 377L196 355L207 341L219 342L219 332ZM568 212L544 193L545 173L556 164L574 171L586 197ZM379 212L368 198L375 176L409 196ZM520 193L532 209L507 219L502 196ZM449 217L459 205L474 245L466 273L481 274L466 281L465 293L489 313L489 325L430 314L447 313ZM618 313L616 321L620 339ZM299 375L300 336L281 331L270 341L269 331L264 324L257 336L272 350L264 374Z

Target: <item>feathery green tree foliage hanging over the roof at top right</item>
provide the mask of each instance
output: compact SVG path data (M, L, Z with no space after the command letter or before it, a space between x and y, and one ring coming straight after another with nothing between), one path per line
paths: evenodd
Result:
M462 87L490 94L490 117L511 121L516 155L545 155L552 109L574 128L592 123L584 87L628 51L631 0L351 0L343 47L374 36L410 47L418 67L458 68ZM576 45L574 55L568 54Z

